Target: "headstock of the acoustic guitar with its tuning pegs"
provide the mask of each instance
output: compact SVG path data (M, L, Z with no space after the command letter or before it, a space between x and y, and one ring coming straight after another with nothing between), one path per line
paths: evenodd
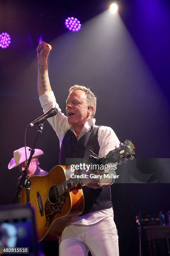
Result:
M126 140L125 143L120 143L118 148L111 150L105 156L105 163L117 162L118 164L126 163L128 159L133 160L135 154L135 146L132 141ZM107 160L106 160L107 159ZM104 160L104 159L103 159Z

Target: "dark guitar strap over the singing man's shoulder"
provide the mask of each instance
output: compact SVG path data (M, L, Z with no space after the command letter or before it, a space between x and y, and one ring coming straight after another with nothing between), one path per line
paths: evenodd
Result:
M100 126L95 125L94 128L92 129L90 138L87 141L87 145L85 149L84 161L83 161L84 163L87 162L87 159L92 154L89 150L92 150L95 154L98 154L98 152L96 152L95 150L95 145L97 145L97 135L100 127L101 125Z

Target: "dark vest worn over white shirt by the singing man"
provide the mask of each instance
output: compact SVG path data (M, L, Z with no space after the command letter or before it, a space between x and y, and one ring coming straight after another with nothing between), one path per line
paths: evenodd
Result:
M65 159L67 158L84 158L85 148L92 129L93 128L85 133L78 141L75 134L70 129L67 131L60 149L59 165L65 165ZM99 143L98 140L96 140L93 148L94 153L98 155L99 149ZM84 194L85 208L81 215L112 207L110 187L92 189L83 186L82 190Z

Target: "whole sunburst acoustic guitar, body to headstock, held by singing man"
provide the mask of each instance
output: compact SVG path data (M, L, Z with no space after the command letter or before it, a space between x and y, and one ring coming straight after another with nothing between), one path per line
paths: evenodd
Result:
M108 162L121 164L133 159L135 147L131 141L120 143L121 146L110 151L100 159L91 155L97 164ZM30 202L35 209L39 241L56 240L65 229L72 216L78 216L84 209L84 197L79 178L84 170L74 178L66 180L65 166L55 166L44 176L29 177ZM26 192L23 187L21 203L26 203Z

